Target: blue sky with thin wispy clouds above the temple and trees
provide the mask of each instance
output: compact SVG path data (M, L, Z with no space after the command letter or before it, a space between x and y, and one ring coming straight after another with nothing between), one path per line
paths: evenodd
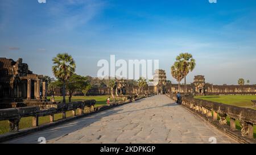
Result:
M1 0L0 57L23 58L32 71L52 76L52 57L68 52L76 72L97 76L110 55L159 59L168 79L181 52L197 65L189 73L216 84L256 83L256 1Z

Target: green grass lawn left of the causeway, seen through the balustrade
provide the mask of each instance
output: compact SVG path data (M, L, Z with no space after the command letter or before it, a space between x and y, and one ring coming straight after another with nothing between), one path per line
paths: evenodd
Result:
M95 99L96 104L95 107L105 105L106 104L106 99L109 96L86 96L86 97L72 97L72 102L76 101L82 101L82 100L90 100L90 99ZM62 102L62 97L55 97L55 100L57 102ZM66 102L68 102L68 97L66 97ZM72 116L72 111L67 112L67 117ZM61 119L62 114L55 114L55 120ZM49 123L49 116L44 116L39 118L39 125ZM24 129L24 128L30 128L32 127L32 117L27 117L27 118L22 118L19 122L19 128ZM8 120L3 120L0 121L0 134L9 132L9 121Z

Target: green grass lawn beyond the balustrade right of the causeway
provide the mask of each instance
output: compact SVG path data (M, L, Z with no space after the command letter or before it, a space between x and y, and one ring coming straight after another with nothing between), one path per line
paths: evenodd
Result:
M238 107L252 107L253 102L251 100L256 100L256 95L224 95L224 96L195 96L197 99L204 99L209 100L212 102L224 103L229 104L232 106ZM256 108L254 108L256 110ZM229 117L227 117L228 124ZM240 122L236 120L236 127L237 129L241 130ZM254 138L256 138L256 126L254 125Z

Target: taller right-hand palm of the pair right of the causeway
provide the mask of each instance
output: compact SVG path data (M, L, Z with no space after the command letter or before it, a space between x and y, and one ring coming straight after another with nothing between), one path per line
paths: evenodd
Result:
M185 93L187 93L186 77L188 73L192 72L195 68L196 60L193 59L193 56L189 53L180 53L180 55L176 57L176 62L184 75Z

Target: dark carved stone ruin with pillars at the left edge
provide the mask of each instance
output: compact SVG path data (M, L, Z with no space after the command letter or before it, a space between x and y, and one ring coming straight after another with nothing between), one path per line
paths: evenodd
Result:
M15 107L17 103L47 102L47 81L33 74L22 58L14 61L0 58L0 108Z

